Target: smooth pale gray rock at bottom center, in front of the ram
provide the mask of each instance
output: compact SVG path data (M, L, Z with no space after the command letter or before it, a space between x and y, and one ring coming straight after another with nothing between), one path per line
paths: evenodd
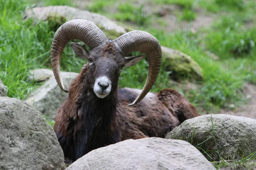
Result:
M128 139L93 150L67 170L215 170L191 144L162 138Z

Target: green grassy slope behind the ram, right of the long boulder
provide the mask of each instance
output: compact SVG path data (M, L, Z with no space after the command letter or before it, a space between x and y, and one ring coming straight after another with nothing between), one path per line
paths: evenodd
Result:
M133 1L133 3L136 2ZM202 29L197 34L192 34L191 32L184 32L182 29L170 33L165 28L166 23L162 18L156 17L154 14L145 14L143 4L137 4L138 7L136 7L130 1L121 4L111 0L111 3L106 6L104 5L104 0L96 0L92 1L88 9L104 14L113 20L134 24L135 28L148 31L157 37L161 45L175 48L191 55L204 69L205 77L204 82L202 82L204 84L203 88L185 94L194 105L203 106L204 111L211 111L212 106L217 106L217 108L228 107L230 104L236 104L237 101L240 101L242 84L245 81L256 83L255 48L250 48L250 54L243 54L247 46L241 43L243 40L246 43L252 42L251 44L256 42L256 39L251 37L254 30L250 29L249 34L244 34L244 28L241 26L244 22L250 21L248 16L252 17L255 14L252 2L242 3L241 0L227 0L224 3L221 0L149 0L148 3L151 3L151 6L159 6L159 4L162 4L162 6L169 4L179 6L182 12L174 11L173 13L177 14L181 20L194 20L196 11L200 10L204 10L204 13L210 15L222 15L220 15L220 20L214 24L214 27ZM109 10L113 6L117 11L109 12L114 11ZM154 27L155 20L162 25L162 29ZM236 30L227 32L227 29L233 28L237 24ZM223 45L222 42L226 42L226 44ZM204 52L205 50L217 54L221 61L212 60ZM230 54L230 51L238 51L238 53L231 52ZM133 69L131 69L131 72L134 73ZM167 74L169 73L161 71L160 77L158 77L157 83L152 89L153 91L157 91L159 88L172 87L165 79L165 77L168 77ZM121 79L120 86L142 88L142 86L137 86L137 78L131 75L133 74L130 74L130 77ZM131 83L129 84L129 82ZM140 84L140 81L138 83ZM182 88L174 88L183 92Z

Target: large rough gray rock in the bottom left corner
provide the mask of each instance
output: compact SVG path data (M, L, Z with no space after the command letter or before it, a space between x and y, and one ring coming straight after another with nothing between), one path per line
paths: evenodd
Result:
M0 169L63 170L63 151L52 127L31 105L0 97Z

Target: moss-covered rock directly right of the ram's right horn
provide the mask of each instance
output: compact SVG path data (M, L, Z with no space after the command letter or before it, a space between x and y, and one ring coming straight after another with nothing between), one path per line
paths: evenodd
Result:
M163 46L162 52L162 68L165 71L171 71L171 79L176 81L182 79L203 80L203 69L190 56Z

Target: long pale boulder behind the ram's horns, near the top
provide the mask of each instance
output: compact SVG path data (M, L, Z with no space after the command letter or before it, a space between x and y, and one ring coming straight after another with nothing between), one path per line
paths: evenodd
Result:
M74 19L89 20L96 26L98 26L110 39L115 39L116 37L119 37L120 35L126 33L131 29L128 27L125 28L125 26L120 26L119 24L116 24L114 21L108 19L101 14L80 10L78 8L73 8L70 6L46 6L27 8L24 18L34 18L36 20L52 20L52 17L58 17L61 19L61 16L64 16L67 21Z

